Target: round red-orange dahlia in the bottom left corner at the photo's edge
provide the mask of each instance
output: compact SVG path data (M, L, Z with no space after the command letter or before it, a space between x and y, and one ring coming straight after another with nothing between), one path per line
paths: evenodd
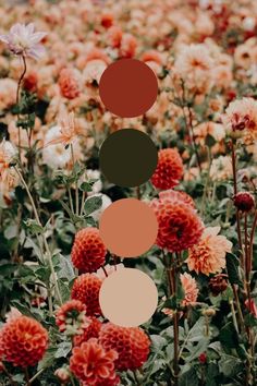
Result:
M27 316L12 318L1 329L4 361L14 366L34 366L48 346L47 330L37 321Z

